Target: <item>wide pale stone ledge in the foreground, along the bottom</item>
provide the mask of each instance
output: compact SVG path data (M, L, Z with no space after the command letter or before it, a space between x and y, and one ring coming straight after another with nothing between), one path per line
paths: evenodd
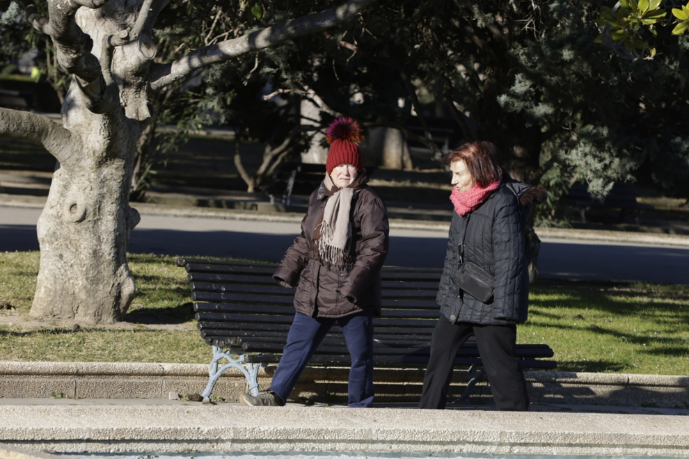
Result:
M689 410L534 404L442 411L163 399L0 399L0 445L60 453L338 452L689 457ZM0 446L1 449L1 446ZM396 456L395 456L396 455Z

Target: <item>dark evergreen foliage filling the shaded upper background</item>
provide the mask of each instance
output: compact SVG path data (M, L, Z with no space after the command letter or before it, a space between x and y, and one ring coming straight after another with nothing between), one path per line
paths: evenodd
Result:
M320 102L324 112L315 129L323 131L338 115L365 127L406 129L418 120L413 106L422 127L434 110L452 115L462 138L493 141L514 177L546 186L550 196L541 219L556 215L557 200L576 181L587 183L596 198L624 180L652 181L667 195L689 198L689 39L676 35L683 13L658 22L660 13L651 8L658 2L644 3L630 46L648 45L642 47L647 58L624 59L599 36L613 1L381 0L338 29L241 56L169 86L155 99L156 122L183 131L230 123L239 136L271 148L287 141L281 160L306 148L314 133L300 124L304 97ZM642 2L630 1L639 10ZM155 32L157 60L169 62L214 40L337 3L172 2ZM623 3L624 14L635 14ZM658 8L672 5L660 2ZM18 37L35 35L26 22L6 15L0 24L5 59L25 49ZM656 18L651 29L644 15ZM26 42L49 52L40 40ZM275 97L265 100L269 93ZM429 136L426 129L416 140ZM141 151L148 153L140 170L145 164L150 169L155 149L164 148L156 145L151 133L142 140Z

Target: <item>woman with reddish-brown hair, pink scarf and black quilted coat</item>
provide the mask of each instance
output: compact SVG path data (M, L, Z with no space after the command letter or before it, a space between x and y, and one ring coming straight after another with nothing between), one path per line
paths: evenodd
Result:
M459 347L475 335L498 410L525 411L529 397L514 354L516 324L527 317L526 202L541 193L509 178L489 142L466 143L445 156L454 204L450 241L436 301L441 316L419 408L443 409Z

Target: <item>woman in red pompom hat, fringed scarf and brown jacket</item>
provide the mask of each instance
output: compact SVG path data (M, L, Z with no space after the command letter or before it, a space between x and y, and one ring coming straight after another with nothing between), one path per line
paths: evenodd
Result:
M351 356L349 407L373 403L373 316L380 314L380 270L388 253L388 214L366 185L361 128L339 118L328 129L327 174L311 193L301 235L273 278L297 287L294 321L267 392L242 394L249 406L285 405L301 372L335 323Z

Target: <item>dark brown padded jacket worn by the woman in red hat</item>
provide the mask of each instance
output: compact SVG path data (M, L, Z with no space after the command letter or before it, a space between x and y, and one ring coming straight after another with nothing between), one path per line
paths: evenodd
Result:
M311 193L301 235L278 265L273 278L285 287L299 287L294 295L297 312L311 317L343 317L366 309L380 314L380 270L388 255L388 212L383 200L369 186L354 191L351 203L354 266L349 271L322 266L313 243L313 232L323 214L328 195L321 184Z

